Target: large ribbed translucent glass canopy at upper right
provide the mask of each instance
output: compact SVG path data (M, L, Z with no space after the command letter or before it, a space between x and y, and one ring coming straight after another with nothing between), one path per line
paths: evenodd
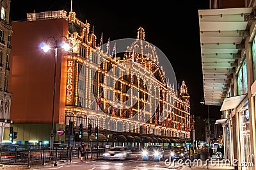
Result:
M223 104L250 23L244 15L252 12L252 7L198 10L205 105Z

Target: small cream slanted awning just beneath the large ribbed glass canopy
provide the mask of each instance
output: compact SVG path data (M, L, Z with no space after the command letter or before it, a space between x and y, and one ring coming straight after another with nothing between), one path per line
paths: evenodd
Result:
M225 98L223 104L221 105L220 111L236 108L244 100L246 95L247 94Z

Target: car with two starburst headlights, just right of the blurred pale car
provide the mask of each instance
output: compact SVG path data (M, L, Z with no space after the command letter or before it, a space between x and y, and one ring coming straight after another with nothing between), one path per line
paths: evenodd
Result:
M148 145L142 153L143 160L164 160L164 150L161 145Z

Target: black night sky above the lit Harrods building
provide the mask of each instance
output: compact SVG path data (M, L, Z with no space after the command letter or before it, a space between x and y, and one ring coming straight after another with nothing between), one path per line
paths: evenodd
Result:
M170 4L169 4L170 3ZM10 20L26 20L26 13L67 10L70 0L11 1ZM145 40L168 56L177 84L186 82L191 114L207 117L204 97L198 10L209 9L209 0L200 1L85 1L73 0L77 19L94 27L97 40L103 43L121 38L136 38L139 27ZM220 118L221 106L209 106L211 118Z

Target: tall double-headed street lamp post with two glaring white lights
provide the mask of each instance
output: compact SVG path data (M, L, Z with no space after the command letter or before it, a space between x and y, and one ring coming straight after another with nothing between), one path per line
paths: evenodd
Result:
M60 36L60 39L65 38L65 42L67 42L66 36ZM41 49L44 50L44 52L48 52L51 47L49 46L49 40L54 40L54 83L53 83L53 97L52 97L52 127L51 127L51 137L50 137L50 150L53 150L53 142L54 142L54 108L55 108L55 88L56 88L56 69L57 69L57 53L59 49L59 40L54 38L53 36L49 36L45 43L42 45ZM68 43L63 43L61 45L61 48L63 48L65 51L68 51L70 49L70 46Z

